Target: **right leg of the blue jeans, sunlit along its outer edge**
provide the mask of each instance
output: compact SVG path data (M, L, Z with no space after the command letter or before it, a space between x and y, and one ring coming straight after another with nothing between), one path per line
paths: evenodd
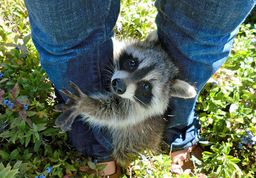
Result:
M157 32L187 80L198 93L224 63L240 24L255 0L157 0ZM197 97L196 97L197 98ZM165 141L173 151L186 149L199 139L200 123L193 99L173 98Z

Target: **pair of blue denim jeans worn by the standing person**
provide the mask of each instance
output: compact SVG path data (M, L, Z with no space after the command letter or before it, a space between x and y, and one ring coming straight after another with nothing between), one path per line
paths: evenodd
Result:
M157 32L181 70L180 78L199 91L223 64L239 25L255 0L157 0ZM60 90L76 83L85 93L107 89L107 65L113 57L114 35L120 0L25 0L33 43L41 65ZM63 97L64 100L66 99ZM196 98L173 98L165 142L174 151L186 149L199 139ZM69 138L83 156L98 160L111 157L113 145L107 131L89 128L76 120Z

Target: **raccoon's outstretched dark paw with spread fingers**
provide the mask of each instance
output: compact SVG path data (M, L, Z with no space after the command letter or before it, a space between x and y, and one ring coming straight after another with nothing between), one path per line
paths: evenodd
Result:
M74 93L71 93L69 90L62 89L60 90L65 96L68 97L68 100L65 104L59 104L55 106L55 111L63 112L55 121L55 128L61 128L61 133L65 133L74 122L74 119L80 114L77 112L77 107L79 108L80 97L85 95L82 91L75 85L73 82L70 82L70 87L74 90Z

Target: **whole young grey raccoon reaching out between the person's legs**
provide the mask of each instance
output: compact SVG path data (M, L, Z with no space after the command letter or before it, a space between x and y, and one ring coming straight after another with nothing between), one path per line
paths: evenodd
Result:
M69 99L56 106L63 112L56 127L70 128L77 115L92 127L108 128L113 138L113 157L124 165L127 153L148 148L154 153L162 143L162 119L172 96L195 97L195 89L177 79L178 68L160 44L157 31L146 40L114 43L111 91L85 95L71 82L74 90L61 92Z

